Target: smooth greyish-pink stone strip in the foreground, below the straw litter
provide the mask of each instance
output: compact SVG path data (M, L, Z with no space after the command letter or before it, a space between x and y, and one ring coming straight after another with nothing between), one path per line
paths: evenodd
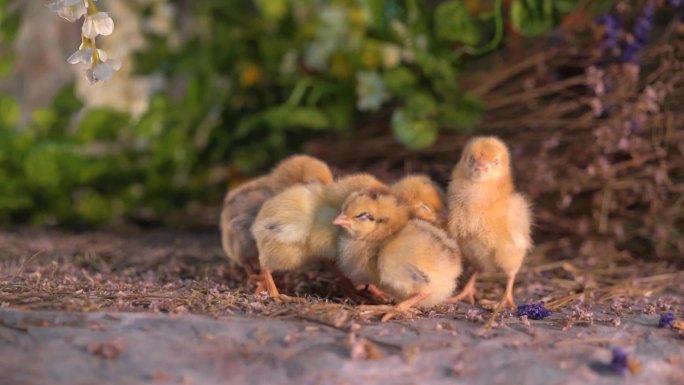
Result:
M439 317L344 332L301 319L5 309L0 378L3 384L680 384L684 341L654 327L657 319L640 315L618 327L572 331L552 321L511 323L483 332L479 323ZM614 346L640 363L638 373L610 371Z

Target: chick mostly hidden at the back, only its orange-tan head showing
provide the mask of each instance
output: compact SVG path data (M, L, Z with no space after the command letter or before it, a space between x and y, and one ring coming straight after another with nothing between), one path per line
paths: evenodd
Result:
M447 221L444 190L426 175L407 175L390 186L392 192L409 203L413 215L439 226Z

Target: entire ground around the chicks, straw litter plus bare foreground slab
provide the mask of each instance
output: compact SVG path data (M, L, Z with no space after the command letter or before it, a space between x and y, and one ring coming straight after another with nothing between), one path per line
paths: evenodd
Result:
M332 270L276 276L278 304L222 255L215 233L0 232L0 384L678 384L684 275L628 259L537 261L516 289L551 316L476 306L389 323ZM351 295L351 296L350 296ZM490 328L487 328L490 326ZM630 359L625 374L611 350Z

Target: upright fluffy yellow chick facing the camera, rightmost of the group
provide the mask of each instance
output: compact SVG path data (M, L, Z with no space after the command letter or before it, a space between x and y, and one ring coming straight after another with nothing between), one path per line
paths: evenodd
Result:
M532 247L531 213L525 197L514 190L506 145L495 137L468 142L447 194L449 232L474 267L463 291L450 301L465 299L472 304L477 275L500 269L508 278L500 305L514 308L515 276Z

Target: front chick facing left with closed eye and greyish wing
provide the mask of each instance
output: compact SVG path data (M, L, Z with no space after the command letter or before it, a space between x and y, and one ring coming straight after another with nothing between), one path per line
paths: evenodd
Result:
M354 266L399 302L383 322L414 305L432 306L452 295L461 274L458 245L446 232L411 219L411 206L385 189L352 194L334 223L346 230L338 258L343 271Z

